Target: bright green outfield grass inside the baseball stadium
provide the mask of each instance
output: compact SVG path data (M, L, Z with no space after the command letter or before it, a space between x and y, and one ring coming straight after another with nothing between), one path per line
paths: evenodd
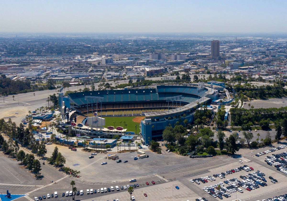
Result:
M126 128L127 131L131 131L131 132L135 132L135 124L137 125L137 133L139 133L139 123L135 123L133 122L133 118L135 118L137 116L133 116L133 117L102 117L106 122L106 125L104 126L105 128L107 128L108 126L114 126L118 127L118 126L122 126L124 129ZM114 121L116 122L114 124ZM122 123L120 123L120 121L122 121ZM125 121L125 123L124 123ZM127 124L127 126L125 127L124 125Z

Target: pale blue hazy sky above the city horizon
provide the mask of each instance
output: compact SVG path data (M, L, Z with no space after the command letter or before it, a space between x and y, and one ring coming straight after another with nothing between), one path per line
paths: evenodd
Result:
M287 0L0 0L0 32L287 32Z

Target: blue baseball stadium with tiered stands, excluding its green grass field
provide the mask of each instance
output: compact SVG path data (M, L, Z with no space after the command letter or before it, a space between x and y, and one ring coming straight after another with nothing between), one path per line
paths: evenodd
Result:
M174 126L177 121L183 125L184 119L193 122L196 106L217 97L216 90L199 83L70 93L63 103L67 108L73 105L77 111L77 136L122 136L129 131L123 127L104 127L105 116L145 116L139 133L143 143L148 144L162 138L162 131L168 125Z

